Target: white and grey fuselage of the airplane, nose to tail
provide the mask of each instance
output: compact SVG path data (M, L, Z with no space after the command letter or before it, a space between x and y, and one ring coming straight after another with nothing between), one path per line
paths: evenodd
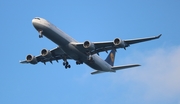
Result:
M43 36L56 43L61 49L72 59L81 61L91 68L99 71L114 72L112 66L101 59L97 54L93 54L92 60L88 60L87 54L81 52L75 45L70 43L78 43L75 39L58 29L56 26L43 18L34 18L33 26L37 31L42 31Z

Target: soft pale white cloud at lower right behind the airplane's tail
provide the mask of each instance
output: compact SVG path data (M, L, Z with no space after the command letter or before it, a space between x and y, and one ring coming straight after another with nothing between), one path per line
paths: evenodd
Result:
M143 63L142 66L122 71L121 76L112 75L114 83L122 84L122 79L125 83L137 83L132 87L132 94L141 90L141 97L146 101L180 99L180 47L142 53L136 61Z

